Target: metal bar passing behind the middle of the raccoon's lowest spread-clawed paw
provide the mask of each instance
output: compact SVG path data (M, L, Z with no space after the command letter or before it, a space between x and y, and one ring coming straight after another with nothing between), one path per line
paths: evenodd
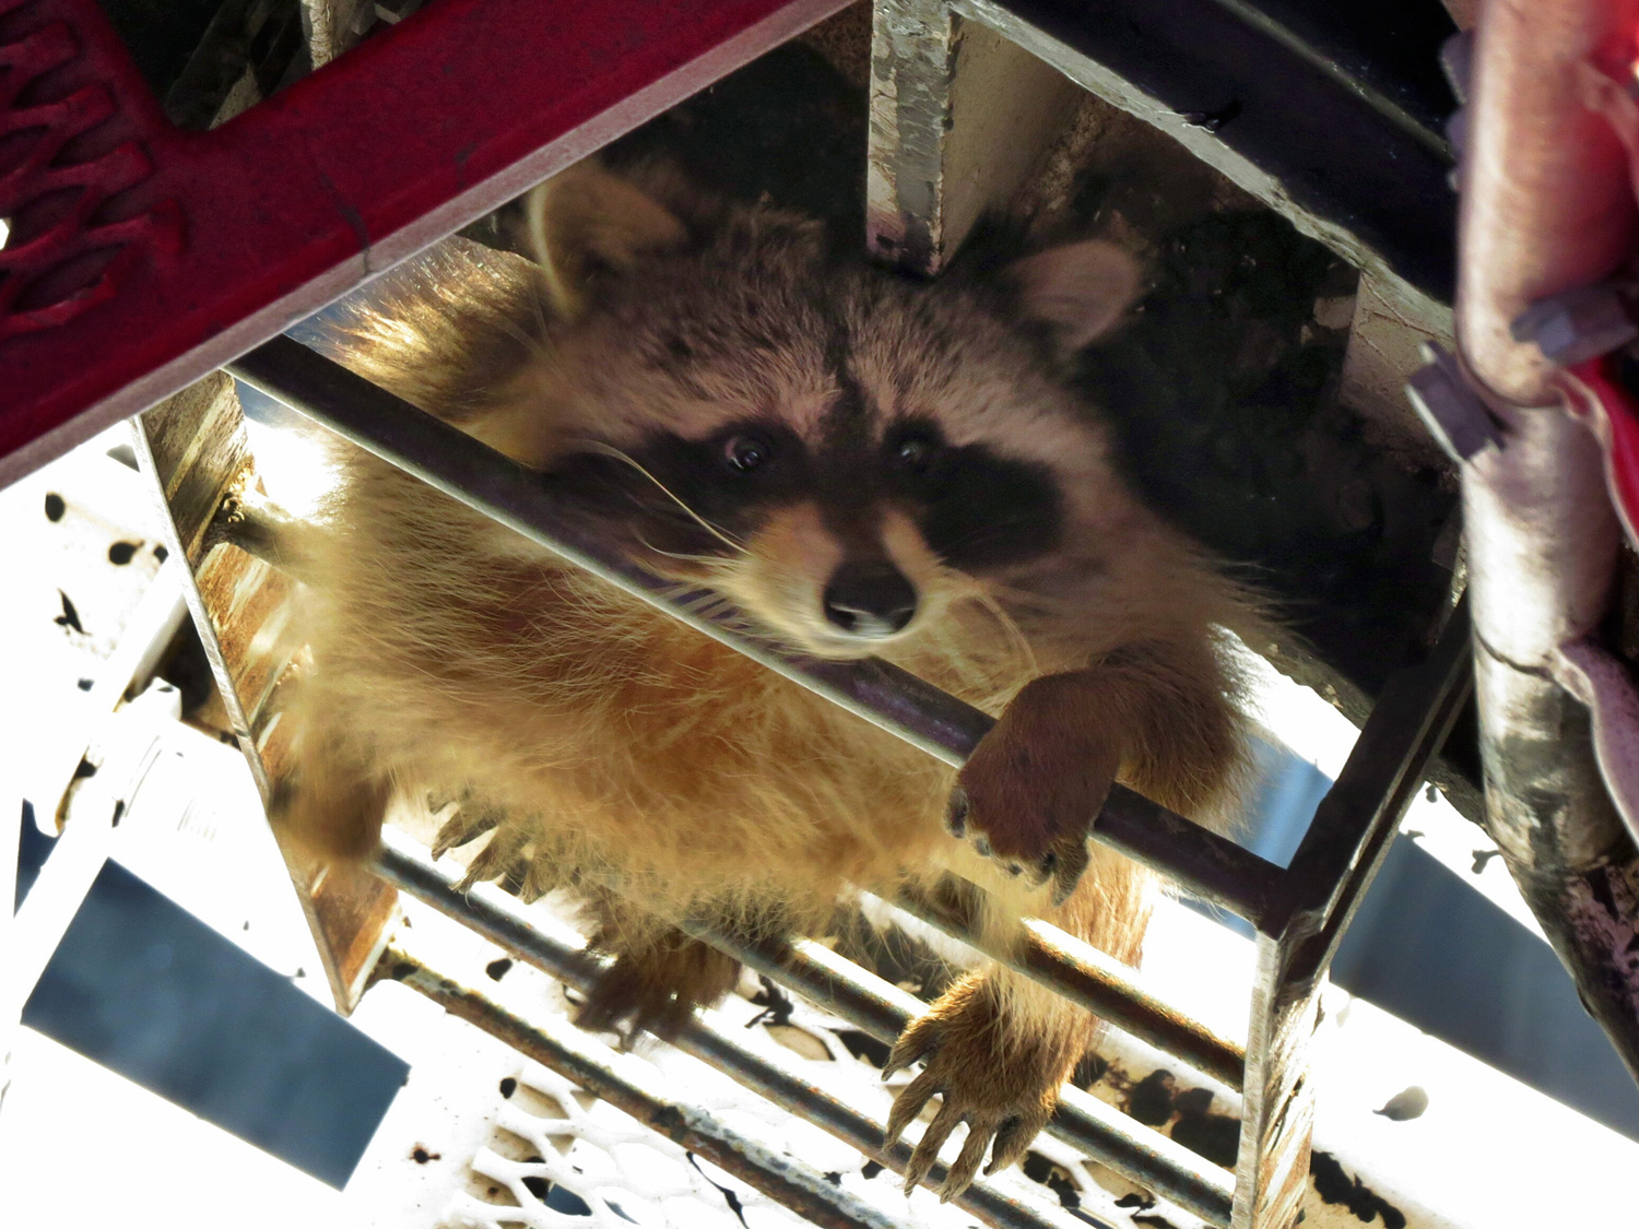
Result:
M926 1005L836 952L795 937L747 937L716 926L683 929L746 967L797 990L890 1045ZM1229 1224L1234 1183L1211 1162L1065 1085L1047 1132L1214 1226Z

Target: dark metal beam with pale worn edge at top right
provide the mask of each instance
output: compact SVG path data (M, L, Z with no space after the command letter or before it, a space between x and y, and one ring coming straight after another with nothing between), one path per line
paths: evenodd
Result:
M1274 10L1249 0L952 7L1177 138L1355 267L1451 302L1457 203L1444 139L1339 72Z

